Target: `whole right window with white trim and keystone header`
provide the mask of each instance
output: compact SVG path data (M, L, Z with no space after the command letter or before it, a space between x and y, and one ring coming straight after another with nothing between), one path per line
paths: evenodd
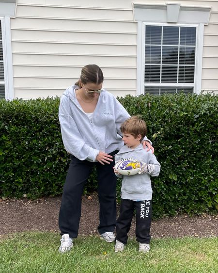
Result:
M199 94L204 25L211 7L132 3L137 23L137 95ZM183 1L184 2L184 1Z

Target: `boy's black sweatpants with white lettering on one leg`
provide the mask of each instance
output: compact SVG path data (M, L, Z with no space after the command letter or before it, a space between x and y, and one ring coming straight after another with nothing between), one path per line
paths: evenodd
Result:
M132 201L121 199L120 216L116 225L116 240L127 243L132 217L136 209L136 239L141 243L150 243L152 219L152 200Z

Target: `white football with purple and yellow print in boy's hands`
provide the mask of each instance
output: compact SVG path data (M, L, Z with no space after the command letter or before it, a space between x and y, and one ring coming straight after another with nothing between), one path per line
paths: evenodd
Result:
M140 171L140 166L141 163L139 161L132 158L128 158L117 162L114 168L121 175L133 176L138 174L138 172Z

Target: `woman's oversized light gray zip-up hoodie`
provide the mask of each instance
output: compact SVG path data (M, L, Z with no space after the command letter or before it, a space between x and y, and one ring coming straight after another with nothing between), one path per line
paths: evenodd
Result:
M90 122L78 103L76 89L79 89L77 85L70 86L61 97L59 121L63 145L79 160L94 162L99 151L111 153L124 145L120 126L130 115L112 94L104 90Z

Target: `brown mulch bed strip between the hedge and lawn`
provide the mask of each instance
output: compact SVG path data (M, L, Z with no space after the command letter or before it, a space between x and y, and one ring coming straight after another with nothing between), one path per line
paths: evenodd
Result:
M60 205L61 196L33 201L26 198L0 199L0 235L27 230L60 232L58 227ZM97 196L83 196L79 235L98 234L98 215ZM151 235L153 238L217 237L218 215L202 214L193 217L177 215L153 220ZM135 237L135 219L133 219L129 236Z

